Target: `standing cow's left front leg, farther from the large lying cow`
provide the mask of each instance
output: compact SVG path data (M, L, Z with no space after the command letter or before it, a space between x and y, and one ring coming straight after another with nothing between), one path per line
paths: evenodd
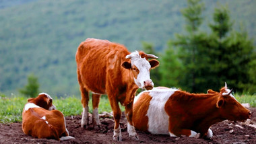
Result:
M120 128L120 118L122 113L119 108L118 101L115 98L111 98L110 96L108 96L108 100L113 110L113 115L115 120L113 140L122 141L122 134L121 134L121 128Z

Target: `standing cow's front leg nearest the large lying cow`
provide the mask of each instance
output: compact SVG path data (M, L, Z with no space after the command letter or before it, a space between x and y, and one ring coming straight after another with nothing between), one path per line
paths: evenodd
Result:
M139 140L135 127L133 126L133 102L125 106L125 116L127 118L127 132L129 137L134 140Z

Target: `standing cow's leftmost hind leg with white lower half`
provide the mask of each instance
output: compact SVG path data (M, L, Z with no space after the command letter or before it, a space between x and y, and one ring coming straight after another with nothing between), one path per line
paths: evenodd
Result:
M89 125L89 116L88 116L89 92L84 87L80 87L80 91L81 91L81 96L82 96L81 102L83 105L81 127L86 128Z

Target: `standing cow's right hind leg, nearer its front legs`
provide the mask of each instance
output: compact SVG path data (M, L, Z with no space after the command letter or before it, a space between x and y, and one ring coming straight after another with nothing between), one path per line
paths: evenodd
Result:
M92 94L92 122L94 124L94 129L101 128L100 118L98 117L98 104L100 103L100 94Z

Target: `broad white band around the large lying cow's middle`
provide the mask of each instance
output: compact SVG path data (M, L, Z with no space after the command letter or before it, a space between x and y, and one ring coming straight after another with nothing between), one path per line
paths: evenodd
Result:
M152 134L169 135L169 116L164 110L167 100L178 89L161 89L154 87L150 92L152 100L146 116L148 116L148 131Z

